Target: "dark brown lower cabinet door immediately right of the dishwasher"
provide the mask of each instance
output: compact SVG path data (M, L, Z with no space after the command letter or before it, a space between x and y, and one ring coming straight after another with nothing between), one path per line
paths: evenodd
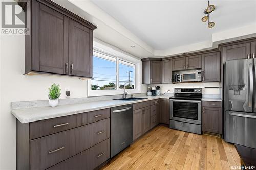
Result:
M142 135L142 112L143 109L133 111L133 140Z

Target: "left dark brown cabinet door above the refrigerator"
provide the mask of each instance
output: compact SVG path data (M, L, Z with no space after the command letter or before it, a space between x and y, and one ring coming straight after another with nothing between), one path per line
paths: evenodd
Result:
M243 43L222 48L223 62L228 60L246 59L251 53L251 44Z

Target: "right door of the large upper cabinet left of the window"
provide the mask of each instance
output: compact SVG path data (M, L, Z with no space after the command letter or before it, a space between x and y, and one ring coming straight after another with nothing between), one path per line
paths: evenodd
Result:
M93 31L69 21L69 74L92 77Z

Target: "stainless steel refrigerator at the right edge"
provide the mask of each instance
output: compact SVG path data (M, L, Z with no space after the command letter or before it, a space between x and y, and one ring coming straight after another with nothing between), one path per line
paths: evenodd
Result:
M225 66L225 140L256 148L256 59Z

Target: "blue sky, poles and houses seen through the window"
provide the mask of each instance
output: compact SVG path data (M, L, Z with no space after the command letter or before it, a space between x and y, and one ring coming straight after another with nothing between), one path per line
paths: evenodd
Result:
M92 90L123 89L125 83L126 89L134 89L134 64L106 55L93 56Z

